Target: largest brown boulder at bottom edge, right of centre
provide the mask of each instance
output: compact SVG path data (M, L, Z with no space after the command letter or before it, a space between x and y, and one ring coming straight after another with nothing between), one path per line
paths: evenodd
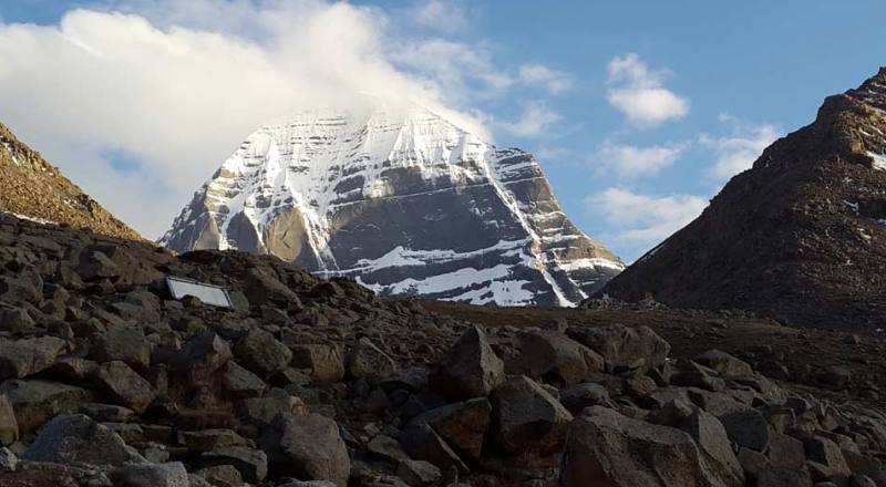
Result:
M686 432L595 406L569 427L560 485L743 487L744 481L730 472L711 469Z

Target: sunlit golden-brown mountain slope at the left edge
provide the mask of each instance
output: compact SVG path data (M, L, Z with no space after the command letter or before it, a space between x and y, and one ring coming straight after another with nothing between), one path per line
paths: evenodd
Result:
M0 124L0 211L142 240Z

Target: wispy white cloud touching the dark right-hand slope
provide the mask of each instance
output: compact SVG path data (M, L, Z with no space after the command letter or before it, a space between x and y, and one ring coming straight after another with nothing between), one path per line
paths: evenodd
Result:
M715 160L711 175L721 180L750 169L763 149L781 136L781 131L770 124L748 125L727 114L720 115L720 122L732 125L732 135L702 134L699 144L713 152Z

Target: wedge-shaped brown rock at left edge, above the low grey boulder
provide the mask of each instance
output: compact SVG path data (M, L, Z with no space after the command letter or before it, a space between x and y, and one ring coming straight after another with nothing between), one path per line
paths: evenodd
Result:
M6 381L0 395L6 394L16 412L20 434L37 428L60 414L75 412L81 404L93 401L93 394L73 385L48 381Z

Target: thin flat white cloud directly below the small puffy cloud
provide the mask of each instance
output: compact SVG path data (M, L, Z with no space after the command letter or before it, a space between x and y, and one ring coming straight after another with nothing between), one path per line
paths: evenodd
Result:
M599 157L607 168L622 177L652 176L673 165L683 154L684 144L652 145L638 147L607 142Z

